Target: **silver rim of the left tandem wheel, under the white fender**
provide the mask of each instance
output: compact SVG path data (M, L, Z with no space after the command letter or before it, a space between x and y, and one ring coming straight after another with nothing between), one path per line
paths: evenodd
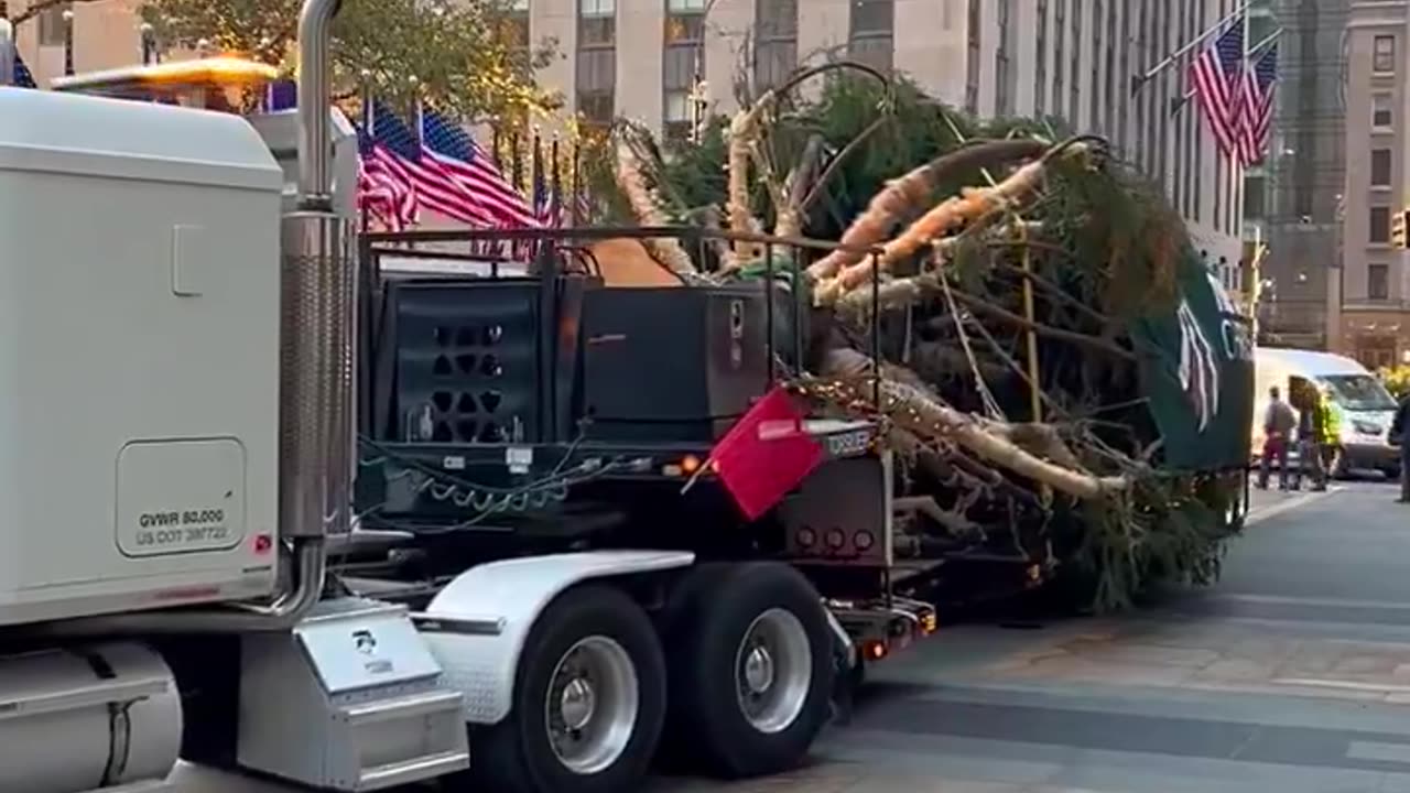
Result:
M548 745L572 773L599 773L626 751L639 710L632 658L613 639L588 636L563 653L548 679Z

